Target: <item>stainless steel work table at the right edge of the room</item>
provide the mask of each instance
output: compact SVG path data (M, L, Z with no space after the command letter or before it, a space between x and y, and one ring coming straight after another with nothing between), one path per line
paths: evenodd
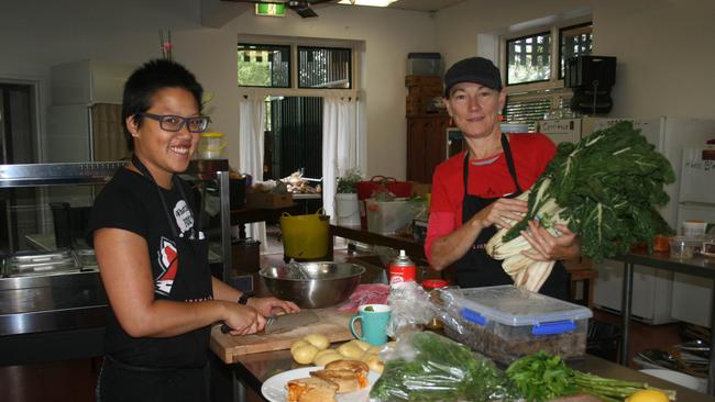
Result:
M632 306L634 266L636 264L663 269L671 272L688 273L695 277L715 279L715 261L701 255L692 258L671 258L670 253L632 252L614 259L624 263L624 281L622 299L622 331L623 342L620 345L620 364L628 366L628 342L630 337L629 324ZM711 300L711 323L715 323L715 291ZM711 324L712 325L712 324ZM711 346L715 345L715 331L711 331ZM707 393L715 394L715 353L710 356L710 372L707 376Z

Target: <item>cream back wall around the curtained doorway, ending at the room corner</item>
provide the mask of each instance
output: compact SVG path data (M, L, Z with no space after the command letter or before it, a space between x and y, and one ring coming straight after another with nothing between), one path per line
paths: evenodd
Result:
M317 19L257 18L250 13L220 29L200 25L197 0L26 0L0 7L0 80L36 79L43 110L50 66L80 59L139 65L160 57L158 30L170 29L174 59L193 70L215 98L212 129L228 134L238 166L235 45L240 34L337 38L364 43L369 175L405 177L404 77L409 52L435 52L430 14L359 7L317 7ZM44 121L44 118L43 118Z

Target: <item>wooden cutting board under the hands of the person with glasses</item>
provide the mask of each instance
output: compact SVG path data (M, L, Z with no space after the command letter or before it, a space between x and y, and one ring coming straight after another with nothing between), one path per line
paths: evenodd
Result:
M348 328L350 317L353 314L340 312L337 308L314 309L311 311L318 314L320 322L282 334L234 336L222 334L221 325L213 325L211 328L211 350L224 362L232 364L235 362L237 356L289 349L295 340L308 334L326 335L331 343L353 338Z

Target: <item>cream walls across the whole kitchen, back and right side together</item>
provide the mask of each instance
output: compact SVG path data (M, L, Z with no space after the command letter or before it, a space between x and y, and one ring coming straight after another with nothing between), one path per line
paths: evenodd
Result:
M596 54L618 57L613 115L715 119L715 1L712 0L465 0L428 13L318 7L317 19L242 14L221 29L201 26L198 0L25 0L0 5L0 79L41 82L48 69L87 58L140 64L161 56L160 29L170 29L174 57L215 93L213 129L233 144L238 166L235 43L240 34L362 41L367 172L405 176L405 59L441 52L447 64L476 54L477 34L524 21L592 8ZM46 127L44 127L46 130Z

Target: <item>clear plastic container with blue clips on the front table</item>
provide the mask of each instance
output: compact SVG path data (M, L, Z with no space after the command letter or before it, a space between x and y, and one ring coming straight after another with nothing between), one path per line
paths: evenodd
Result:
M508 365L521 356L546 350L563 359L582 358L591 310L547 295L498 286L446 289L442 300L460 327L444 334L495 361Z

